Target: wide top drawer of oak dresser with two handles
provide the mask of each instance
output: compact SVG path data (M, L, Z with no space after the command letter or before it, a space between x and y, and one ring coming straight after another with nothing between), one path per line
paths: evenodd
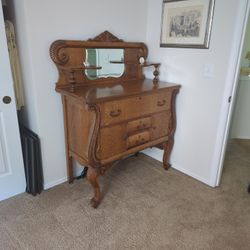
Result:
M101 125L106 126L169 110L170 107L171 91L105 102L101 106Z

